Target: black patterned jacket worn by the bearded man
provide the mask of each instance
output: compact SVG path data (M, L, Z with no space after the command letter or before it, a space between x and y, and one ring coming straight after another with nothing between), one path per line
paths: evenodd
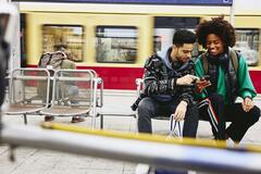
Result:
M145 64L145 96L152 97L160 102L173 100L194 102L194 86L178 86L176 79L187 74L194 74L194 62L173 67L166 64L164 58L153 54Z

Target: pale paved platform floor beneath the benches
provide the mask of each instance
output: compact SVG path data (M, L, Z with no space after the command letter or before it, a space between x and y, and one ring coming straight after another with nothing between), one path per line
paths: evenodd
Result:
M119 91L104 91L104 107L98 112L104 114L103 129L134 133L136 120L129 105L136 99L134 91L121 94ZM261 108L261 98L254 99ZM5 124L23 125L20 115L3 115ZM42 115L28 115L29 126L39 126L44 122ZM55 117L54 122L71 124L71 117ZM153 133L167 135L169 122L152 120ZM76 123L84 127L91 126L91 119ZM261 120L253 125L241 144L261 146ZM23 136L23 135L21 135ZM208 122L200 121L198 129L199 138L212 138L211 127ZM105 145L104 145L105 146ZM15 161L10 161L11 150L7 145L0 146L0 173L1 174L135 174L137 163L115 161L97 157L77 156L46 149L17 147L14 150Z

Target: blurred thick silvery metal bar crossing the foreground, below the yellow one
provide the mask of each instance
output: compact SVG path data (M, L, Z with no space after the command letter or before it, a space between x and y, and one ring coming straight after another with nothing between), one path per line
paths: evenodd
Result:
M171 170L192 170L222 174L261 173L261 154L245 149L182 146L7 124L2 126L0 142L148 163Z

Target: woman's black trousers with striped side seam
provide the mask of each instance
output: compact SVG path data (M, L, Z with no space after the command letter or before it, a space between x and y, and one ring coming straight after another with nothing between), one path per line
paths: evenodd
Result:
M226 136L228 136L234 141L239 142L248 128L258 122L260 117L258 107L254 105L249 112L245 112L241 103L225 104L219 94L212 94L209 101L209 105L199 108L199 119L210 121L215 139L226 139ZM214 116L212 116L216 117L216 125L210 115L209 107L213 109ZM227 128L226 122L232 122Z

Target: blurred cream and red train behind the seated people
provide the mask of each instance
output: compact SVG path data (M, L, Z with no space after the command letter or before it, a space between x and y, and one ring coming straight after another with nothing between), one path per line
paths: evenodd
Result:
M77 69L95 70L103 78L105 89L135 89L135 78L142 76L145 60L170 46L176 29L194 30L202 20L224 14L236 28L235 48L246 54L251 78L261 92L261 2L234 0L233 5L206 5L207 1L200 0L202 4L194 5L194 0L188 4L162 4L164 0L158 0L160 4L145 0L141 4L132 0L87 1L17 1L22 64L37 66L41 53L63 48ZM195 57L198 48L196 45Z

